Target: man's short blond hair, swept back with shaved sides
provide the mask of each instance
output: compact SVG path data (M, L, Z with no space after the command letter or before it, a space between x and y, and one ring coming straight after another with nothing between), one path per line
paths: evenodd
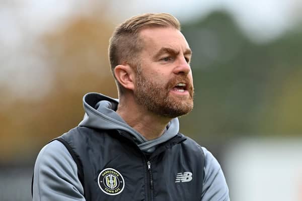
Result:
M139 65L138 53L143 47L142 39L138 37L141 29L146 27L173 27L180 30L179 21L168 13L146 13L131 17L117 26L109 40L109 62L119 92L122 86L116 80L114 68L119 64L128 63L134 70Z

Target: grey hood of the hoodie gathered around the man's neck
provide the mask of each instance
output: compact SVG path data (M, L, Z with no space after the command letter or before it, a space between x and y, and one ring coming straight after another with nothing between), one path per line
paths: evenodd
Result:
M152 153L157 145L177 135L179 122L172 119L164 134L153 140L146 140L140 133L130 127L117 113L118 99L100 93L87 93L83 97L85 115L79 126L105 130L123 130L128 132L141 151Z

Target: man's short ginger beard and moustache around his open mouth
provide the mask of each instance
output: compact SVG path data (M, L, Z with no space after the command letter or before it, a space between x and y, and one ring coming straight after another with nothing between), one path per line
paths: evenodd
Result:
M136 102L148 111L169 118L176 118L188 114L193 109L194 88L190 79L185 75L175 75L168 82L149 80L136 69L136 83L134 96ZM171 89L179 82L187 84L188 95L173 95Z

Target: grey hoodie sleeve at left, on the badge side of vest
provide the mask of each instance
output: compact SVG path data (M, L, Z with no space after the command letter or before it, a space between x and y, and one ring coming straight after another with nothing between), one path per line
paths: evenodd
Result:
M77 164L65 146L55 140L40 151L34 170L33 201L85 201Z

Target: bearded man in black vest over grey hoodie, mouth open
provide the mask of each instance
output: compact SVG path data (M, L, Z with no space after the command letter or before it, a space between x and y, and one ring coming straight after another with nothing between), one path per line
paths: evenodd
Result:
M191 55L169 14L118 26L109 60L119 99L84 96L84 120L38 155L33 200L229 200L216 159L178 133L193 108Z

